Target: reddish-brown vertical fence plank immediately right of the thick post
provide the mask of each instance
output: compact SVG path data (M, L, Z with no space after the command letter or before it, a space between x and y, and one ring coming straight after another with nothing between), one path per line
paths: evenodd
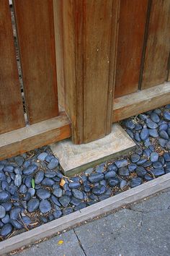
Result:
M121 0L115 98L138 90L148 0Z

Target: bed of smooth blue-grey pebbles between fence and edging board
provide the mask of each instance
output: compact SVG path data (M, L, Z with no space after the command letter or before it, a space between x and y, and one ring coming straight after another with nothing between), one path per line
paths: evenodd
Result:
M170 172L170 104L122 121L138 148L68 178L50 148L0 161L0 239Z

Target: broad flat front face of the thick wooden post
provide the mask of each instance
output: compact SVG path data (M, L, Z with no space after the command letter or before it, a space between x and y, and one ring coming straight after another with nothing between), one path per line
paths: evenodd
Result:
M111 31L112 1L84 1L84 142L106 135Z

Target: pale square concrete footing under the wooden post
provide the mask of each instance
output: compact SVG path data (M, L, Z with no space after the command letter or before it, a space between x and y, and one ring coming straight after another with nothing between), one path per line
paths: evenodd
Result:
M134 150L135 142L120 124L113 124L112 132L102 139L81 145L73 145L68 139L56 142L50 148L58 157L63 173L71 176L103 161L127 154L130 150Z

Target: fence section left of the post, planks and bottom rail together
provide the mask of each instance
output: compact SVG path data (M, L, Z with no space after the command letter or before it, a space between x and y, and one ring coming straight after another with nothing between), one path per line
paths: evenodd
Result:
M58 112L53 1L13 1L25 108L9 1L0 1L0 158L71 136ZM18 56L17 56L18 57ZM27 120L25 120L27 115Z

